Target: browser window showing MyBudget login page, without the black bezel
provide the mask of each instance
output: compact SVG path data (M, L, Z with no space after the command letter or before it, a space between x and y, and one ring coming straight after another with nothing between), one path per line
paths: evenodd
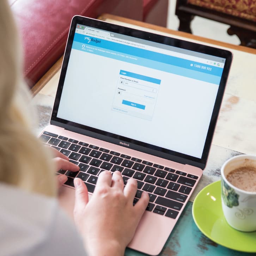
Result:
M224 63L78 24L57 117L201 158Z

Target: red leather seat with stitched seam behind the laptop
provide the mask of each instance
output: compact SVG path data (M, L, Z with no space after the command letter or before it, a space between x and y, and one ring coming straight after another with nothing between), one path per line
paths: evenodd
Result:
M168 0L9 0L24 49L24 76L30 87L64 53L74 15L102 13L166 26ZM145 12L144 12L145 10Z

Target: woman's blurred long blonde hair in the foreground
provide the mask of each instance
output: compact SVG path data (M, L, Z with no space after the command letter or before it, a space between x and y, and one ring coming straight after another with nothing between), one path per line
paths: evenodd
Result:
M32 133L31 96L22 77L17 29L7 0L0 5L0 182L54 196L53 163Z

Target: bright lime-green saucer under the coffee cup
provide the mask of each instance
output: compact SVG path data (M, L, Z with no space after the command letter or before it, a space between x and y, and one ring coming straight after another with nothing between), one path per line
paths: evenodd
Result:
M221 206L220 181L209 184L196 196L192 214L200 231L227 248L256 252L256 231L241 232L228 225Z

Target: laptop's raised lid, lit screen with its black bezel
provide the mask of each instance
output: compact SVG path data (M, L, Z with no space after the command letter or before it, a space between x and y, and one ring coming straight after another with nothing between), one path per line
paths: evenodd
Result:
M51 124L205 168L232 53L75 16Z

